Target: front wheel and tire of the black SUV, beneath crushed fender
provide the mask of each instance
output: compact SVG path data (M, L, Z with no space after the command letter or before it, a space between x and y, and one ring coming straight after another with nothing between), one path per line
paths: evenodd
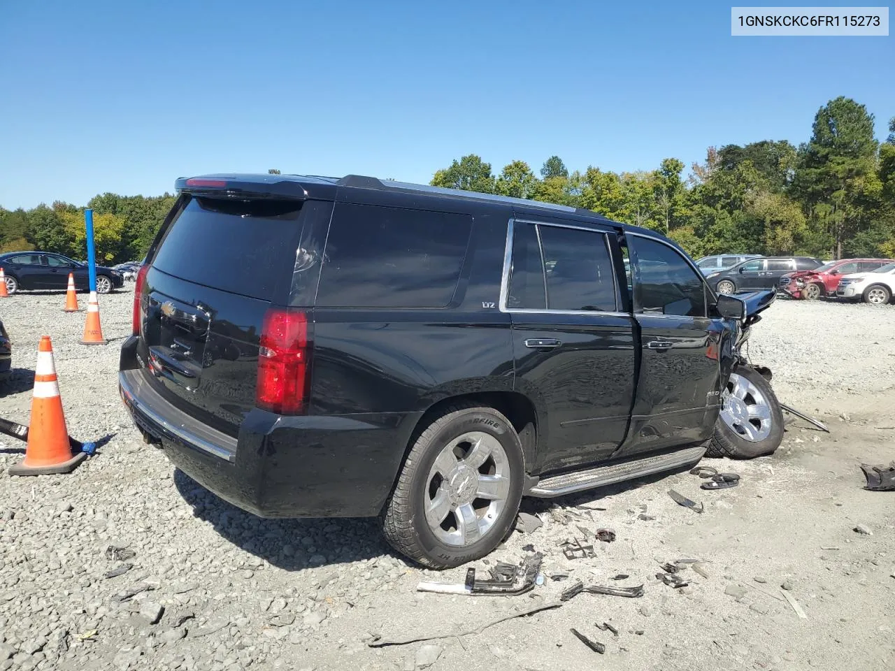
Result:
M721 392L721 412L706 456L754 459L773 454L783 440L783 409L755 369L739 366Z

